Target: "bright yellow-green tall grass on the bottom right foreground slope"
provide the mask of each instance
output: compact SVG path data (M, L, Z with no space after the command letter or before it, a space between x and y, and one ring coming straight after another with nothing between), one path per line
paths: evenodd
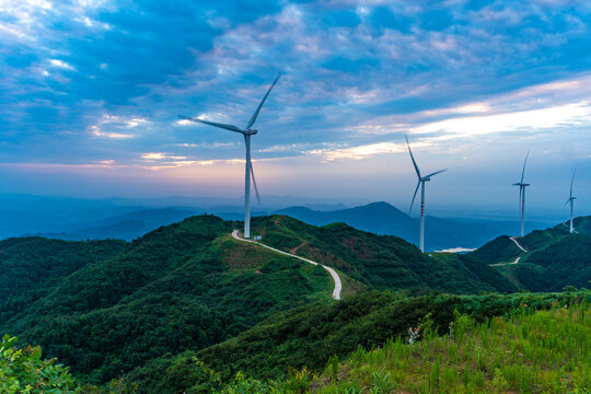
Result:
M553 308L474 324L456 316L450 335L397 338L358 349L311 384L317 393L590 393L590 305ZM331 367L332 369L334 367Z

